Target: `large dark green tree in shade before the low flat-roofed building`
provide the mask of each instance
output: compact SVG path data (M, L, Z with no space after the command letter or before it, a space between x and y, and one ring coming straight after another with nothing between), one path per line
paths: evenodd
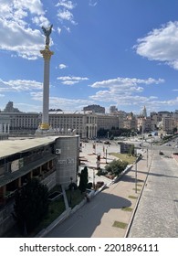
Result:
M13 217L24 234L32 231L47 214L48 189L37 179L16 190Z

